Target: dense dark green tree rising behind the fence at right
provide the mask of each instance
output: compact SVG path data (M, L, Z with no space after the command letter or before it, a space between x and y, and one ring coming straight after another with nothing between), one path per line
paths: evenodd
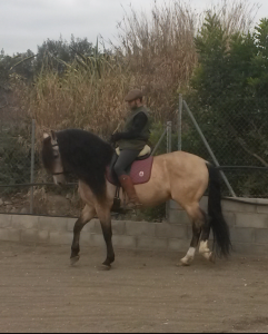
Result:
M267 36L267 19L252 33L228 35L217 16L208 13L195 39L199 66L188 101L221 165L268 166ZM190 132L200 151L202 144Z

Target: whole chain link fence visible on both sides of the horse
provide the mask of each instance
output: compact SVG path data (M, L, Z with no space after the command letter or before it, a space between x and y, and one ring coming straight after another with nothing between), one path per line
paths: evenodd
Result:
M227 167L222 171L230 187L222 179L224 196L267 198L268 98L218 99L202 106L180 97L179 109L176 121L158 129L161 140L153 154L179 148L214 164L216 159ZM34 121L0 121L0 213L80 215L77 180L69 177L69 185L54 186L42 168Z

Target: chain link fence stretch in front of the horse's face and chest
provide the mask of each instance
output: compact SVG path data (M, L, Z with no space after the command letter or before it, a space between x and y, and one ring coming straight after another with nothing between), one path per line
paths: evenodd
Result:
M0 213L79 216L77 184L57 187L42 167L34 120L0 120Z

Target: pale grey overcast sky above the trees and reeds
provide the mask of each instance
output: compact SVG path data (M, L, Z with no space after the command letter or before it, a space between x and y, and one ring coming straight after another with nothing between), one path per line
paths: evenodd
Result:
M172 1L172 0L171 0ZM257 13L268 18L268 0L248 0L261 8ZM117 22L123 17L123 9L129 6L135 10L148 11L153 0L0 0L0 50L12 56L28 49L37 52L37 46L44 40L58 40L60 36L70 41L75 38L88 38L96 42L101 35L106 40L116 41ZM163 3L165 0L157 0ZM166 0L169 2L169 0ZM208 8L216 0L186 0L197 11Z

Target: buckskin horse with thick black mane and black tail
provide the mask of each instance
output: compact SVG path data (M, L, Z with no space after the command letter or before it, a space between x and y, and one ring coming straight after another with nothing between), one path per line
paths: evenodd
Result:
M51 130L51 134L43 134L41 155L43 166L52 175L54 184L64 184L67 173L78 178L78 191L85 207L73 226L71 264L80 257L79 239L83 226L97 215L107 247L102 266L110 268L115 262L111 209L117 186L108 180L107 170L115 148L90 131ZM229 227L221 212L220 174L209 161L181 150L153 156L149 180L135 185L135 188L145 208L173 199L187 212L192 238L186 256L180 259L181 265L192 263L198 245L199 253L212 263L217 256L228 258L231 243ZM208 215L199 206L207 189ZM128 202L121 188L118 196ZM210 229L214 234L212 249L208 245Z

